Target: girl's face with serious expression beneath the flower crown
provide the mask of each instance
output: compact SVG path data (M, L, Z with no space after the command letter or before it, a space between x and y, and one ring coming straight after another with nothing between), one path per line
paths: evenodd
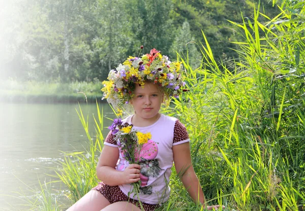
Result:
M163 101L163 93L156 84L145 82L143 86L136 84L135 96L131 104L136 115L143 120L153 120L157 117Z

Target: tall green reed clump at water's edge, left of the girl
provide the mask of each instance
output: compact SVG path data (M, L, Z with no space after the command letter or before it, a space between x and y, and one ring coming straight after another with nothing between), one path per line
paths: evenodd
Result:
M82 152L68 152L64 154L63 161L59 162L61 168L56 171L57 177L65 185L67 185L70 193L68 197L73 203L84 196L88 191L98 184L96 175L96 164L98 156L103 148L103 109L100 112L99 104L97 102L97 118L93 116L95 121L95 136L94 139L89 132L88 118L82 113L79 105L77 111L79 119L83 125L88 139L87 149Z

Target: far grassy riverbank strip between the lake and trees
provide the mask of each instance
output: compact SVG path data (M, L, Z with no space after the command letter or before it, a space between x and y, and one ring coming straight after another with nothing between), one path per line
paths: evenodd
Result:
M0 102L10 103L96 103L102 100L102 83L72 82L43 83L17 82L15 80L0 82Z

